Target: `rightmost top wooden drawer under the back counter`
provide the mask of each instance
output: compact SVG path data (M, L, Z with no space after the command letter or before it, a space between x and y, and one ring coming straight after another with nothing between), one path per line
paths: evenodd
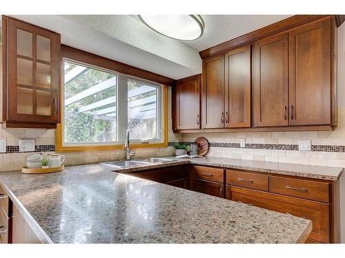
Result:
M319 202L329 202L329 184L270 175L270 192Z

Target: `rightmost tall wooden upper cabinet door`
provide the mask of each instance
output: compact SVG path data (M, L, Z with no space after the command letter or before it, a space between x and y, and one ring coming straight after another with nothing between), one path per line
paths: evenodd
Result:
M289 32L290 125L331 124L331 20Z

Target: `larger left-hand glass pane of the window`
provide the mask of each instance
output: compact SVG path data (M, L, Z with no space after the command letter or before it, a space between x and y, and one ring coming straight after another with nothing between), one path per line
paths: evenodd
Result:
M117 141L117 75L65 61L64 142Z

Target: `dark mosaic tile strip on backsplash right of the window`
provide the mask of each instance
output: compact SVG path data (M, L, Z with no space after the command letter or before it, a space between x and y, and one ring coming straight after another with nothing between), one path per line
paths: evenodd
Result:
M190 144L191 142L179 142L180 144ZM173 146L174 142L169 142L168 146ZM210 142L210 147L217 148L241 148L239 143L230 142ZM246 143L244 149L273 149L282 151L298 151L297 144L257 144ZM311 145L311 151L325 151L325 152L345 152L345 146L336 145Z

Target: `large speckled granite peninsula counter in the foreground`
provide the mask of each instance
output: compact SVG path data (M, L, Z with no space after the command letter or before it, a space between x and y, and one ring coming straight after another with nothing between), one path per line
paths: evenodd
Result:
M186 161L188 162L188 161ZM307 219L110 171L0 172L41 241L53 243L296 243Z

